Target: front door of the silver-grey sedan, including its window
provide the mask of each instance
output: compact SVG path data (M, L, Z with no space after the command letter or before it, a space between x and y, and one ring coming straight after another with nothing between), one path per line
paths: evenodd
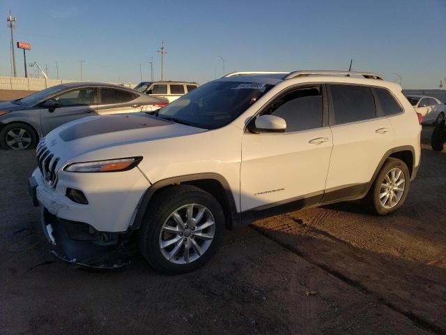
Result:
M41 107L45 102L39 105L43 135L69 121L89 117L97 112L97 89L95 87L71 89L52 97L52 100L56 103L54 110Z

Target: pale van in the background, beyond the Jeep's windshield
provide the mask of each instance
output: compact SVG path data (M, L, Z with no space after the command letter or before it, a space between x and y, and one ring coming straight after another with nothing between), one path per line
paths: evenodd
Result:
M140 82L134 89L157 98L167 98L171 103L197 87L199 87L197 82L172 82L169 80L164 82Z

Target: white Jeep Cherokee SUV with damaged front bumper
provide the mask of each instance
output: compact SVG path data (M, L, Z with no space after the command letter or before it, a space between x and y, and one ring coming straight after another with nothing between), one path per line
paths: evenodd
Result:
M60 258L122 265L136 232L155 269L183 273L225 227L256 218L361 198L392 213L417 174L420 133L401 87L374 73L232 73L155 115L56 128L29 188Z

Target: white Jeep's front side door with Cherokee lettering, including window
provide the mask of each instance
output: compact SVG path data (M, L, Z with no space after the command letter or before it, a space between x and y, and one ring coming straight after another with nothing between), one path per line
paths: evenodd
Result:
M324 96L318 84L291 89L259 114L282 117L285 133L243 135L242 211L304 198L321 200L333 145L330 128L325 126Z

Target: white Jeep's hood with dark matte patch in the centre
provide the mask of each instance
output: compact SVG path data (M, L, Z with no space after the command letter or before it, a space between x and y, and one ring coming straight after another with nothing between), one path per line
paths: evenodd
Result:
M52 154L61 161L69 161L92 151L203 131L206 130L176 124L146 113L114 114L68 122L51 131L44 140Z

